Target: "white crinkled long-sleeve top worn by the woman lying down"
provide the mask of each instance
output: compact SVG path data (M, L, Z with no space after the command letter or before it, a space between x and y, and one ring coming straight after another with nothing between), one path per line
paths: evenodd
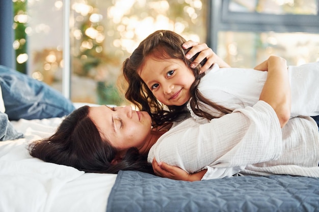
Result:
M154 157L189 173L207 168L203 179L238 172L319 177L319 133L310 117L292 118L280 129L273 108L258 101L210 122L184 120L151 147L148 162Z

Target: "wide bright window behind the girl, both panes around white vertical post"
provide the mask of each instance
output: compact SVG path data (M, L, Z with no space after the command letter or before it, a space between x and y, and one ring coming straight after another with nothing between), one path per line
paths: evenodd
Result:
M62 91L63 71L68 70L63 61L63 11L68 1L14 2L26 5L29 74ZM204 42L206 4L205 0L71 0L71 100L122 104L116 79L124 59L157 29Z

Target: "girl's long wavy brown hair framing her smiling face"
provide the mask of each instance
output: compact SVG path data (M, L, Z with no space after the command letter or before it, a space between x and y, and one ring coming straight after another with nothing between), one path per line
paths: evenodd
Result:
M193 58L187 59L185 54L190 49L185 50L182 48L182 44L185 42L185 39L172 31L156 31L143 40L130 57L123 63L123 76L128 83L125 89L125 98L135 104L140 110L147 111L152 117L154 122L153 125L163 125L164 123L176 120L180 115L187 113L187 108L185 107L187 103L181 106L166 106L161 102L158 102L151 90L139 76L139 72L144 65L145 58L150 55L154 58L163 60L168 58L181 59L185 65L190 67L197 54ZM203 61L201 64L205 62L206 61ZM217 109L221 114L230 113L232 110L214 102L210 102L208 99L204 98L197 89L200 79L204 76L204 73L199 74L200 67L201 66L197 66L192 69L195 75L195 81L190 90L192 97L190 105L192 110L196 115L205 117L209 120L215 118L215 116L199 109L200 101ZM166 107L168 109L166 109Z

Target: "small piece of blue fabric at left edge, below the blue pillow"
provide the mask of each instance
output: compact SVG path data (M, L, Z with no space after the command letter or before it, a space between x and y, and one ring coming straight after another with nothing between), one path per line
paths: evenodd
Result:
M8 115L0 112L0 141L23 138L23 134L17 132L9 122Z

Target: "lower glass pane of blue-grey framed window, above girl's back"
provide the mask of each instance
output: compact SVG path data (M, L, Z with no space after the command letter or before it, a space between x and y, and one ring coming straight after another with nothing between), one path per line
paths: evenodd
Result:
M219 32L217 54L232 67L253 68L270 55L288 65L319 61L319 35L306 33Z

